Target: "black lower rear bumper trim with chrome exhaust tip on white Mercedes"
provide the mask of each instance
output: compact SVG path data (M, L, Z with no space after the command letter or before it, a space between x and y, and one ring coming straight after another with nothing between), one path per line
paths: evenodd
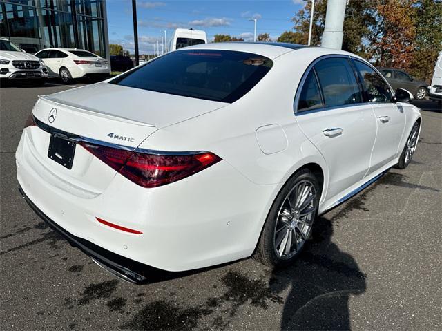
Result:
M130 258L125 258L115 254L103 247L99 247L90 241L79 238L70 234L68 231L57 225L53 220L51 220L43 211L41 211L35 204L26 196L23 189L19 187L21 196L25 199L28 205L31 207L35 214L37 214L46 224L48 224L54 231L60 234L62 237L66 238L70 245L81 249L82 252L93 258L95 263L103 267L108 272L111 272L115 276L122 278L124 281L130 283L140 283L146 281L146 275L149 272L160 272L162 270L144 265L143 263L133 261Z

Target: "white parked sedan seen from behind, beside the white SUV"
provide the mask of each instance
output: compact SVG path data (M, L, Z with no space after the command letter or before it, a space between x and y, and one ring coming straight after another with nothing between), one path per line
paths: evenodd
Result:
M44 60L49 77L60 77L64 83L81 77L107 77L111 66L103 57L77 48L46 48L35 53Z

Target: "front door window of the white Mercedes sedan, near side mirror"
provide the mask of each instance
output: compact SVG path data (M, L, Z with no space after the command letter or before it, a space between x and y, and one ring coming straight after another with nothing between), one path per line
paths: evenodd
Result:
M368 102L391 102L390 87L376 71L361 61L353 60L363 81L365 98Z

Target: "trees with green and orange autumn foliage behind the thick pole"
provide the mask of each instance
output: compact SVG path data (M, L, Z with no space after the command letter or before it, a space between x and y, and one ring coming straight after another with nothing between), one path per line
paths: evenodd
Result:
M291 20L294 27L282 32L279 42L307 44L311 2ZM311 45L320 45L327 0L316 0ZM442 50L441 0L349 0L345 11L343 50L364 57L376 66L407 70L418 79L430 79ZM271 41L261 33L258 41ZM215 42L244 41L215 35Z

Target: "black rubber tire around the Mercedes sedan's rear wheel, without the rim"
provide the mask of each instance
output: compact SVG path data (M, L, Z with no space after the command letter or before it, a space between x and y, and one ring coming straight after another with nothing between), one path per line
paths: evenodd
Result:
M276 244L274 243L274 241L276 240L276 225L278 222L278 217L279 217L278 215L280 209L285 203L287 195L289 195L291 190L294 187L296 187L297 184L305 180L307 180L314 186L314 190L316 192L316 198L314 199L314 202L311 202L313 206L310 207L311 209L314 208L314 212L310 216L311 227L309 229L308 236L305 238L302 246L296 250L293 256L291 256L290 258L283 259L280 256L278 256L278 252L276 251L276 246L275 246ZM285 185L282 187L282 189L278 193L278 196L276 196L273 205L271 206L271 209L265 221L265 225L262 228L262 232L258 240L256 251L253 254L253 258L255 258L260 263L267 265L268 267L285 266L293 263L296 260L297 256L300 254L300 252L302 252L302 248L305 246L304 245L305 242L308 241L309 237L311 236L312 232L311 228L314 226L314 219L318 214L318 202L320 199L320 191L321 189L318 180L316 179L314 174L311 173L311 171L309 171L309 169L302 169L297 173L295 173L294 176L291 176L291 178L287 180Z

